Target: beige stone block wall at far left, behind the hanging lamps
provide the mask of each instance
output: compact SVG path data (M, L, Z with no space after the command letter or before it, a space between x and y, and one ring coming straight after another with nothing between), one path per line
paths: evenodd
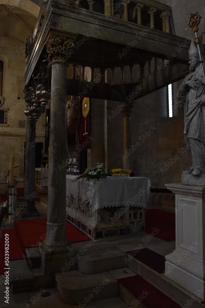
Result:
M28 1L30 2L30 1ZM9 3L8 6L9 7ZM18 11L19 13L19 11ZM23 11L22 11L23 13ZM26 141L26 120L24 115L24 71L26 66L25 43L34 29L36 18L29 15L28 26L23 22L26 12L21 18L12 18L12 14L2 15L0 30L0 61L4 63L3 92L5 103L2 108L8 110L7 125L0 124L0 183L4 183L4 173L10 166L10 155L14 155L14 174L24 176L24 142ZM28 13L27 13L28 14ZM37 121L36 140L44 142L45 115ZM18 184L22 187L24 184ZM0 184L0 194L7 190Z

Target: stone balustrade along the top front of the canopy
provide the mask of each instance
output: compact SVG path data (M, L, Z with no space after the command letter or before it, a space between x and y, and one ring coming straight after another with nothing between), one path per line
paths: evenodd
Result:
M174 33L171 9L154 0L65 0L68 4L134 22L151 29Z

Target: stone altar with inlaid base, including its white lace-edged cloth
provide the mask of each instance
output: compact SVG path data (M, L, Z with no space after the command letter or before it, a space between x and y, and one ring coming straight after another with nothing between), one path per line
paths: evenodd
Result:
M151 182L146 177L108 176L100 181L66 176L67 220L92 239L145 231Z

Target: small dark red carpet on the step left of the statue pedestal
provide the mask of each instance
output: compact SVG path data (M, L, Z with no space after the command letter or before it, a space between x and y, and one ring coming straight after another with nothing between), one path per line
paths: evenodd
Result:
M159 253L154 252L148 248L139 249L138 251L126 251L133 258L149 266L152 270L155 270L159 274L165 271L165 257Z

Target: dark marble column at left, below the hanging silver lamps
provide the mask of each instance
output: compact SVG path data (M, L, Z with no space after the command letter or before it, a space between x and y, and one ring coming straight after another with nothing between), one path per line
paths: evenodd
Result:
M39 216L35 207L35 137L36 121L34 118L27 118L26 125L26 148L25 148L25 184L24 184L24 203L21 217Z

